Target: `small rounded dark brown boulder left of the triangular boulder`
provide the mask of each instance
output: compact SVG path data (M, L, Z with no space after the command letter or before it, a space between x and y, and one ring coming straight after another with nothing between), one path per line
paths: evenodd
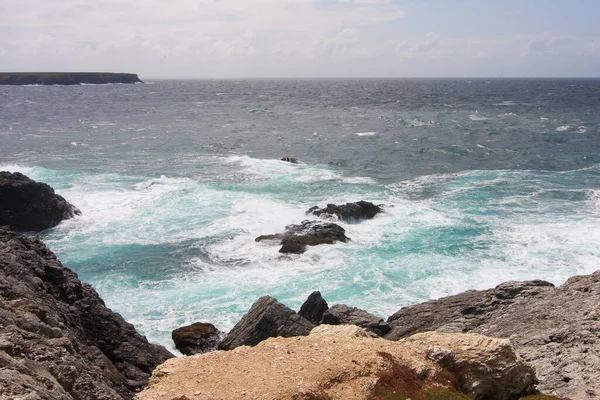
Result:
M215 351L221 341L221 331L213 324L195 322L171 332L177 350L186 356Z

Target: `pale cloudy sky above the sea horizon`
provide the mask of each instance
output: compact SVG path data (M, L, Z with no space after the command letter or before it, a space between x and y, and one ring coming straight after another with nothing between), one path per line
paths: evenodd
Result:
M0 71L599 77L598 0L0 0Z

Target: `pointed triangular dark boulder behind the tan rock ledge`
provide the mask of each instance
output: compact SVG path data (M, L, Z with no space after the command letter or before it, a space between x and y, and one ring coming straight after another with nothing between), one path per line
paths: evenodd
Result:
M256 346L270 337L306 336L314 325L270 296L252 305L231 332L219 344L220 350L238 346Z

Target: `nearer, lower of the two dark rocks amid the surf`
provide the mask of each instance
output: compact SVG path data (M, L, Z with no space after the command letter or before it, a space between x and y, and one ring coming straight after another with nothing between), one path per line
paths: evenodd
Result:
M255 240L257 242L277 240L282 245L279 249L280 253L301 254L306 251L306 246L333 244L335 242L346 243L350 239L346 237L346 230L337 224L303 221L300 225L286 226L284 233L262 235Z

